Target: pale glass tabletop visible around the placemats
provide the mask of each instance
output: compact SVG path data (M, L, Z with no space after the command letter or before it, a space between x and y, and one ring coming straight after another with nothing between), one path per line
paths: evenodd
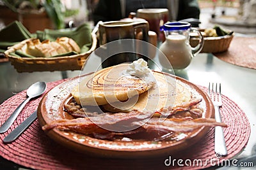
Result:
M241 56L243 57L243 56ZM158 62L157 57L154 59ZM86 65L86 71L90 73L97 69L101 62L99 57L90 57ZM91 64L93 63L93 64ZM10 62L0 63L0 103L8 97L25 90L36 81L56 81L62 78L71 78L79 76L80 71L54 71L54 72L34 72L17 73ZM234 66L224 62L211 53L199 53L193 58L191 64L182 71L176 71L175 74L186 80L207 87L209 82L221 83L221 92L223 95L232 99L246 113L250 121L251 136L248 145L237 155L237 158L250 157L256 153L256 70L244 67ZM252 161L252 160L251 160ZM255 164L255 160L254 160ZM8 169L18 169L19 165L12 164L0 157L0 167Z

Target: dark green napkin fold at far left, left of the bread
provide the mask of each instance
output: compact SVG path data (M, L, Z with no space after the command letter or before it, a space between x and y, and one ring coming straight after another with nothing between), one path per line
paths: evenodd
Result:
M33 35L19 21L14 21L0 31L0 52L7 50L8 46L15 45Z

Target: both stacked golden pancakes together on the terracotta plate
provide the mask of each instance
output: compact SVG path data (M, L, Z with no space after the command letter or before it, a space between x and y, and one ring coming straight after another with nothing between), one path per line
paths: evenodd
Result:
M129 113L132 110L155 112L190 101L191 92L175 76L157 71L134 74L136 70L128 70L145 67L145 64L135 62L136 67L132 64L107 67L86 76L71 92L77 104Z

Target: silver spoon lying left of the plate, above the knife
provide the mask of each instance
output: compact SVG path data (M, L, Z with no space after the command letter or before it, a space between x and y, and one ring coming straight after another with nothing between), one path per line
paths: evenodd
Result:
M10 115L10 117L6 120L6 122L4 122L4 124L0 127L0 133L6 132L11 127L14 120L18 117L20 111L24 108L24 106L28 103L29 100L31 100L34 97L40 96L45 92L45 90L46 90L46 83L44 81L38 81L33 85L31 85L27 90L28 98L24 100L15 111L13 111L12 115Z

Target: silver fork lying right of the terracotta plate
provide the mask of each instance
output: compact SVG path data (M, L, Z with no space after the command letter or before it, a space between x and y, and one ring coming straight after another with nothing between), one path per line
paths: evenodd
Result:
M212 87L212 88L211 88ZM208 94L209 97L212 100L212 103L214 104L214 110L215 110L215 120L216 122L221 122L221 116L220 116L220 107L222 106L222 99L221 99L221 83L219 85L219 92L218 92L218 84L215 85L215 92L214 92L214 83L209 83L208 88ZM224 138L224 132L222 127L216 126L214 132L214 151L216 155L227 155L227 147L225 143Z

